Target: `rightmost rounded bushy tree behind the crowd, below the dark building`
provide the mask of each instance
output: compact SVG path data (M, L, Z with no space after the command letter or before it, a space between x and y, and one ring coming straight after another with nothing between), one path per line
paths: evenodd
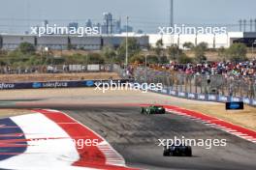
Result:
M247 60L246 45L244 43L233 43L227 50L228 58L232 62L241 62Z

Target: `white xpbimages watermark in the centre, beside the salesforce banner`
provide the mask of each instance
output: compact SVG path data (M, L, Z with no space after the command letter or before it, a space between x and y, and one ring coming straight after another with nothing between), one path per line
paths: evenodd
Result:
M125 82L122 83L119 80L117 82L97 82L95 83L95 91L99 90L103 93L107 91L122 91L122 90L135 90L141 91L142 93L146 93L148 90L153 91L162 91L163 84L162 83L132 83L132 82Z

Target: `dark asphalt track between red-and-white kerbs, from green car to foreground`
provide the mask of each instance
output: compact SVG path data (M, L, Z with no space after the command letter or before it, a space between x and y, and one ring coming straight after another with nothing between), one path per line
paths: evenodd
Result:
M256 145L200 122L169 113L144 116L139 107L86 106L61 111L92 128L112 144L128 166L143 169L256 169ZM227 139L226 147L192 147L193 156L164 157L158 139L174 136Z

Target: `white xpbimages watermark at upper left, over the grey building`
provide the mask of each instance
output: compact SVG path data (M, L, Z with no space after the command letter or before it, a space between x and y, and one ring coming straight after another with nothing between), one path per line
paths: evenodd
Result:
M101 28L100 27L65 27L65 26L57 26L54 24L53 26L36 26L30 27L31 35L37 35L41 37L43 35L75 35L78 37L84 37L86 35L100 35Z

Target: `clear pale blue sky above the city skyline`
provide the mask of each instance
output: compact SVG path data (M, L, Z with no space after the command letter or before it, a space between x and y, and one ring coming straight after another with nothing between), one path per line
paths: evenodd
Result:
M101 22L104 12L115 18L130 16L136 29L157 31L169 23L169 0L0 0L0 30L28 30L48 19L65 24L88 18ZM240 18L256 18L255 0L175 0L175 23L238 24Z

